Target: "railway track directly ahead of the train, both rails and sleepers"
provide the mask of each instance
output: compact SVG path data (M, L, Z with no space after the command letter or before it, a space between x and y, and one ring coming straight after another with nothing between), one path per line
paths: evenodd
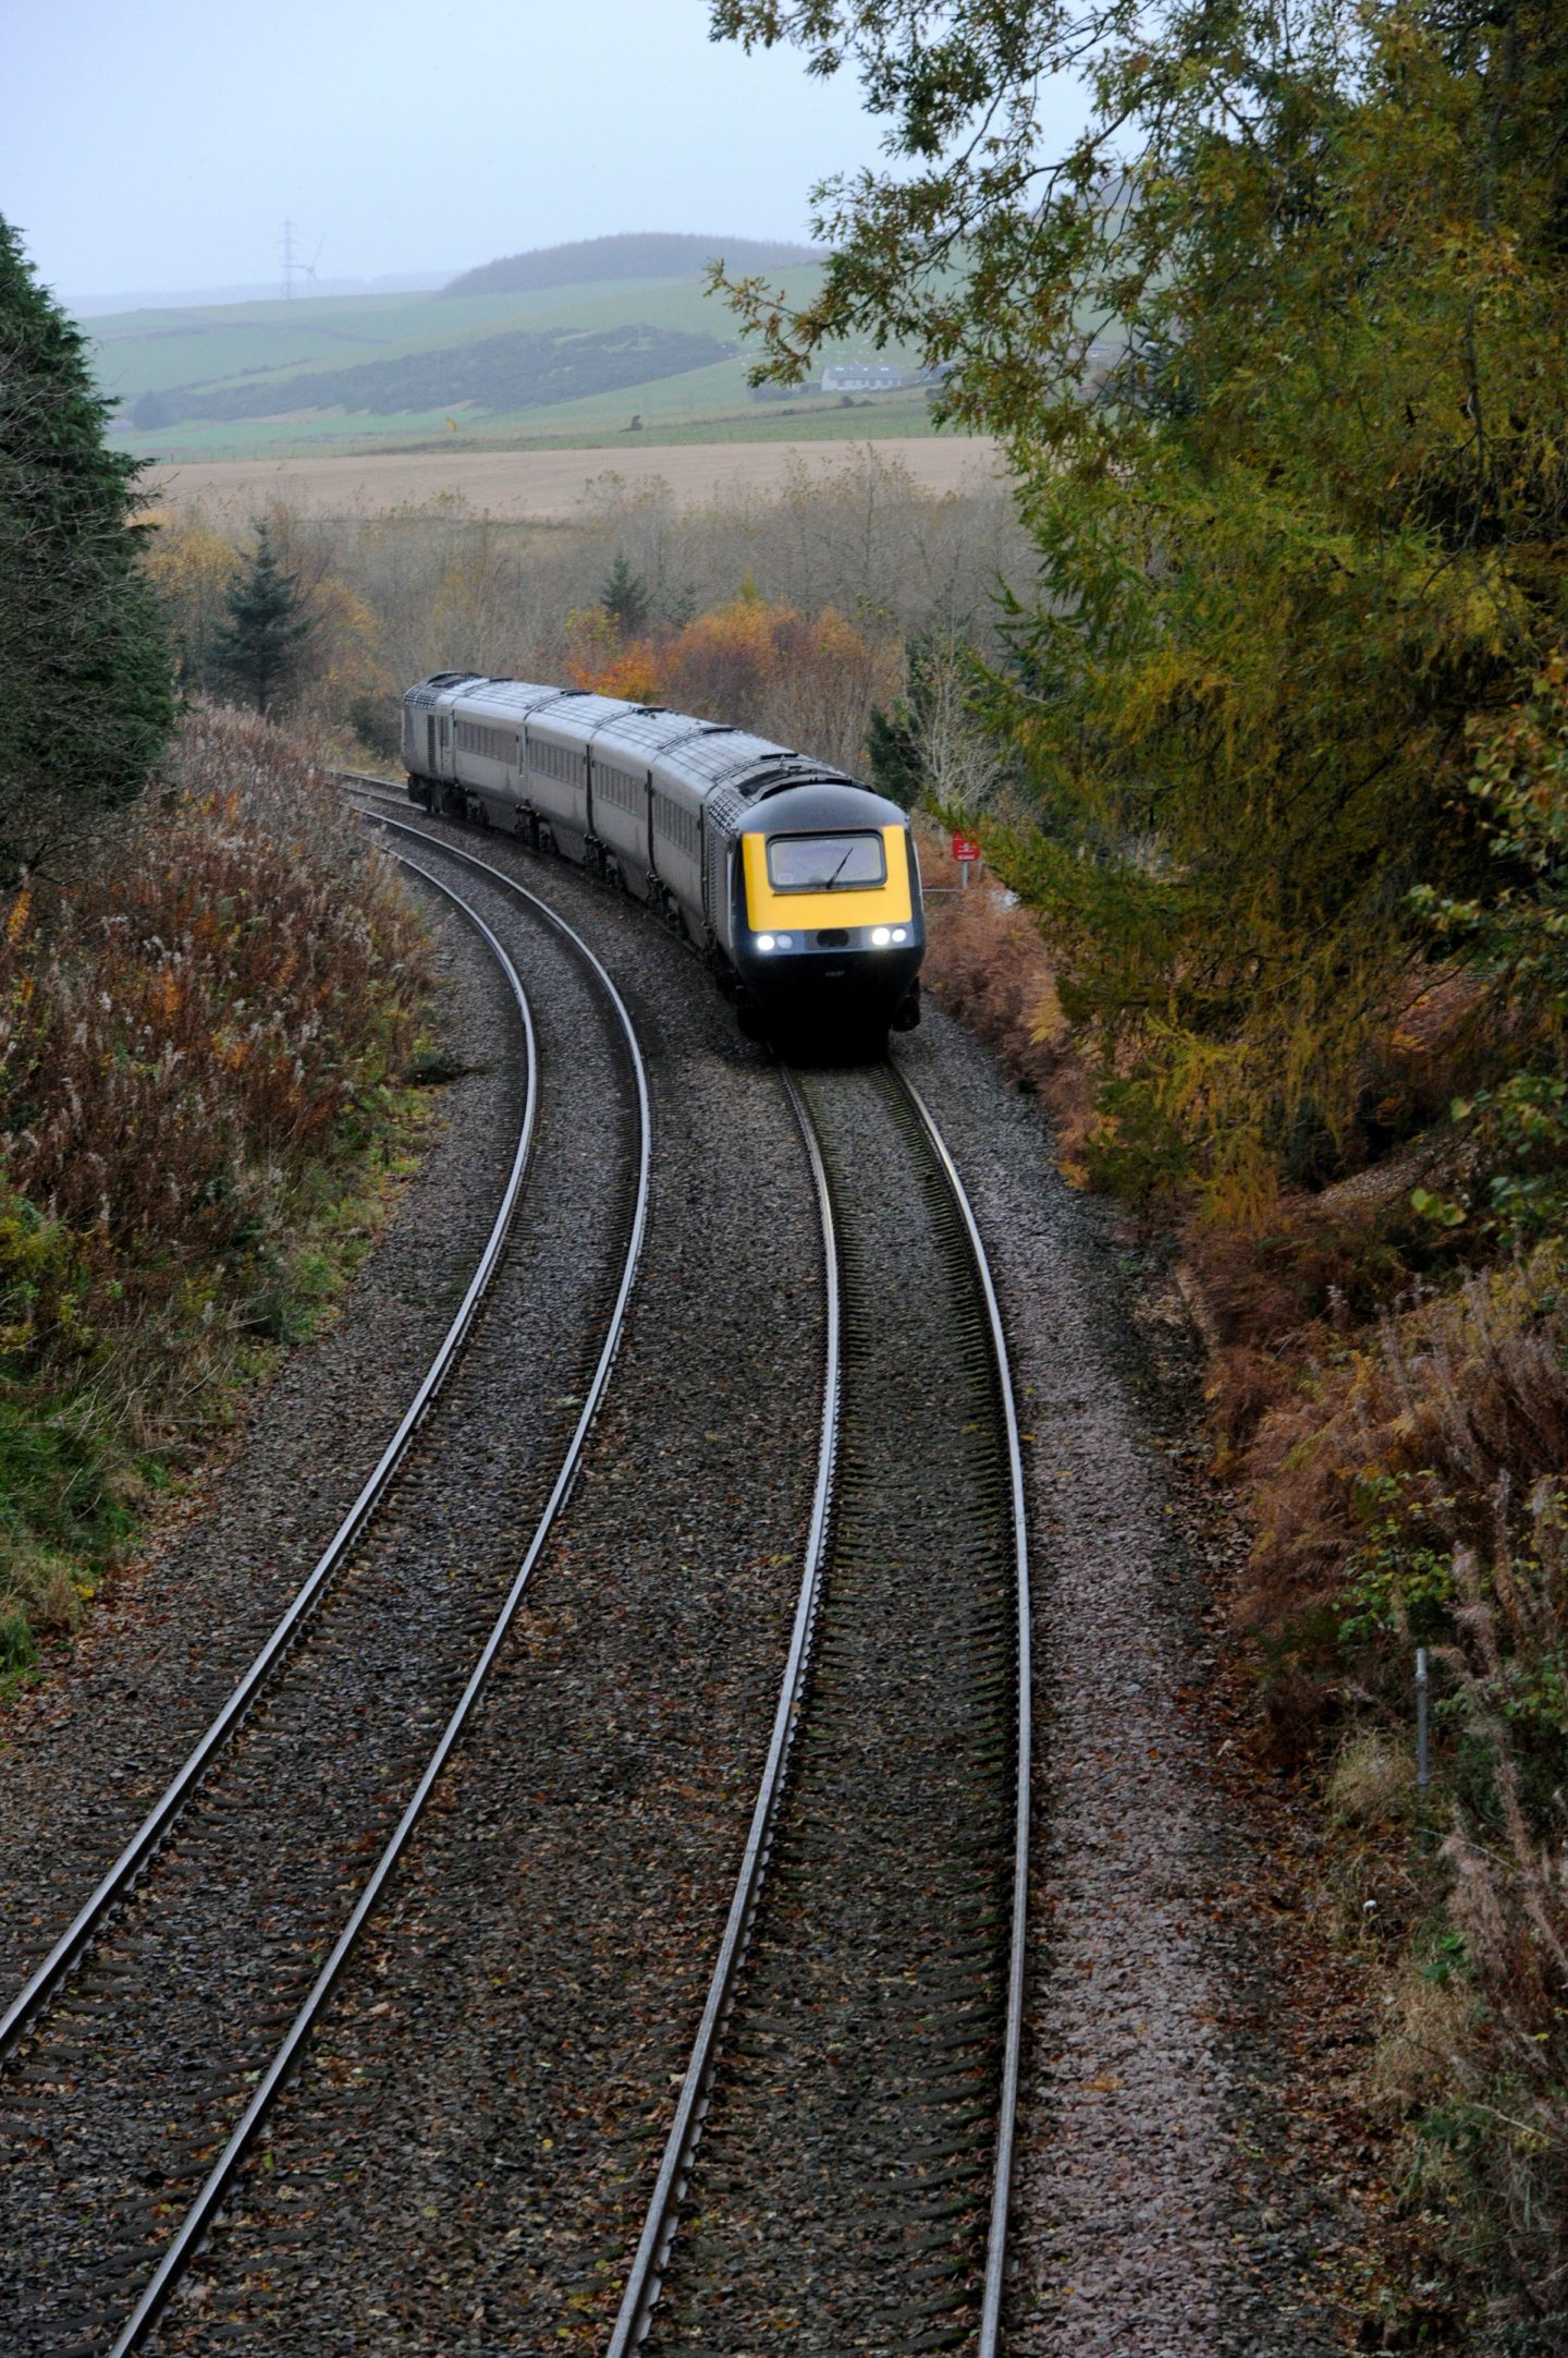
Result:
M611 2337L997 2346L1028 1556L995 1292L915 1089L788 1075L828 1271L818 1495L703 2026Z

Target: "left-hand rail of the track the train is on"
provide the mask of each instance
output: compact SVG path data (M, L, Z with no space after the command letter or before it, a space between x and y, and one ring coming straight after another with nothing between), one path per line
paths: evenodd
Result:
M832 1523L832 1476L837 1464L839 1410L844 1396L842 1351L839 1351L839 1297L842 1297L839 1240L837 1240L837 1221L832 1217L832 1188L828 1184L828 1165L823 1162L823 1151L818 1146L816 1129L811 1127L811 1115L806 1111L799 1089L795 1087L795 1080L783 1066L780 1066L780 1078L785 1085L785 1096L790 1099L790 1106L795 1111L795 1120L799 1122L802 1139L806 1144L811 1179L816 1186L818 1214L823 1226L823 1278L828 1297L828 1318L825 1318L825 1344L823 1344L823 1361L825 1361L823 1429L816 1460L816 1495L811 1500L811 1528L806 1533L806 1556L799 1582L799 1596L795 1603L790 1653L785 1660L783 1681L778 1686L773 1735L769 1743L769 1757L762 1768L762 1785L757 1790L757 1806L752 1809L752 1823L745 1837L745 1851L740 1856L740 1875L736 1877L736 1893L729 1903L729 1919L724 1924L724 1938L719 1941L719 1957L714 1962L712 1981L707 1985L707 2004L703 2007L703 2021L698 2023L698 2035L691 2047L691 2061L686 2066L679 2103L674 2108L674 2122L670 2125L670 2139L665 2141L665 2155L653 2186L653 2198L648 2202L648 2217L644 2221L644 2231L637 2242L637 2254L632 2259L632 2271L627 2275L627 2287L620 2299L620 2313L615 2318L615 2332L611 2334L611 2346L606 2358L627 2358L627 2353L637 2349L637 2344L648 2330L653 2304L658 2301L660 2271L665 2266L665 2259L670 2257L670 2242L674 2238L679 2207L686 2198L686 2186L691 2179L691 2158L703 2134L703 2120L707 2113L707 2092L712 2087L712 2075L719 2061L719 2040L724 2037L724 2023L729 2018L736 1995L736 1976L745 1959L750 1931L757 1917L757 1901L762 1896L762 1879L769 1863L773 1823L778 1818L778 1802L783 1797L790 1745L795 1743L795 1731L799 1726L806 1674L811 1669L811 1639L816 1634L823 1568L828 1561L828 1533Z

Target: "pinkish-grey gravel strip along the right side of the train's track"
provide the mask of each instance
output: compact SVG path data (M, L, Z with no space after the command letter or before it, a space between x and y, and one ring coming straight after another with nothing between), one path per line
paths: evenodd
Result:
M1226 1563L1191 1544L1167 1462L1200 1365L1172 1420L1122 1224L1066 1186L990 1054L938 1012L896 1052L964 1172L1026 1429L1040 1735L1004 2349L1327 2358L1353 2346L1361 2231L1280 2103L1290 1868L1224 1778Z

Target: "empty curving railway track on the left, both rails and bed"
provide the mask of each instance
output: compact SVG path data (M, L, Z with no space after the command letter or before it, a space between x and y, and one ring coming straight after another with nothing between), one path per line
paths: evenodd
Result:
M651 1170L625 1005L542 903L547 929L519 960L450 884L406 865L507 974L526 1056L512 1172L351 1514L0 2023L0 2311L17 2358L118 2358L170 2299L490 1677L620 1339ZM564 995L542 1054L519 962L554 969ZM601 1219L568 1285L559 1203L585 1174ZM521 1474L505 1460L519 1415L538 1434Z

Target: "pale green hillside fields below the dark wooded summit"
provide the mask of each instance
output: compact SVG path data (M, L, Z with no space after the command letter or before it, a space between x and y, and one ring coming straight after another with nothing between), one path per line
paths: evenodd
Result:
M818 266L778 271L778 283L799 302L816 288ZM575 340L604 340L632 323L655 337L700 335L710 340L710 351L714 340L731 351L700 368L674 373L665 363L670 373L648 382L552 403L479 408L457 399L434 408L410 401L403 408L387 394L398 361L422 361L417 373L410 368L410 382L429 387L431 361L424 356L450 354L457 382L465 354L472 361L472 347L486 340L519 332L549 337L571 356ZM113 439L146 457L295 457L431 446L615 448L627 441L816 441L931 432L927 396L917 387L849 401L811 389L783 401L757 399L745 382L747 358L729 307L696 278L620 278L528 295L347 295L130 311L87 321L87 332L99 384L123 403ZM365 368L365 406L354 399L354 380L344 387L349 399L309 406L309 380L318 387L323 373L332 373L342 384L340 373L356 368ZM167 406L182 399L200 406L217 396L217 406L266 408L245 417L177 417L163 427L137 427L130 408L149 394ZM637 427L634 417L641 420Z

